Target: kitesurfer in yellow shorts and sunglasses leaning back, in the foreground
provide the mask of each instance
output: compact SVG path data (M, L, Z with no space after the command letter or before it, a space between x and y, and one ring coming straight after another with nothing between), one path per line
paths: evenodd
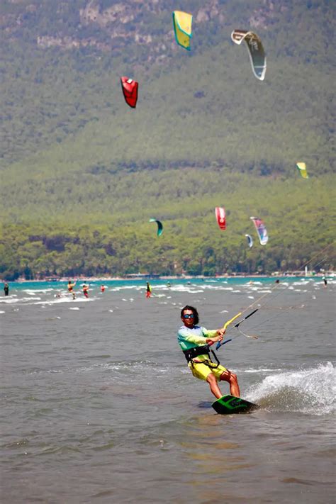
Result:
M193 306L182 308L181 320L184 325L179 328L177 340L192 374L196 378L207 381L211 392L218 399L223 397L218 381L228 381L231 396L240 397L237 376L222 366L210 349L213 343L223 340L225 329L207 330L199 326L198 312ZM217 362L212 362L210 353Z

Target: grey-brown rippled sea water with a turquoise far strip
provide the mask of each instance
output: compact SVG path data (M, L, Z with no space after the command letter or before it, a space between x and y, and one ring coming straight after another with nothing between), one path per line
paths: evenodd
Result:
M336 281L170 283L150 299L144 281L90 282L88 299L10 284L1 503L335 502ZM259 308L218 350L255 413L210 407L177 345L186 304L209 329Z

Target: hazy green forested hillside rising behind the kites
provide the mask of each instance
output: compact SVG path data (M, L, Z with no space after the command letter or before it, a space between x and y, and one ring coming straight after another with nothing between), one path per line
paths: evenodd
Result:
M191 52L174 41L177 8L1 3L3 278L269 272L332 243L335 6L185 1ZM262 38L264 82L231 42L235 28ZM121 75L139 81L135 109ZM264 218L267 246L255 236L248 249L250 215Z

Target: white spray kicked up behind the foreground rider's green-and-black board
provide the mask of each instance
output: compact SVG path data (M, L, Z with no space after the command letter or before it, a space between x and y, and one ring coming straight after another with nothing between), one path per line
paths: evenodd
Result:
M267 410L326 415L335 411L335 375L331 362L271 374L252 386L247 398Z

